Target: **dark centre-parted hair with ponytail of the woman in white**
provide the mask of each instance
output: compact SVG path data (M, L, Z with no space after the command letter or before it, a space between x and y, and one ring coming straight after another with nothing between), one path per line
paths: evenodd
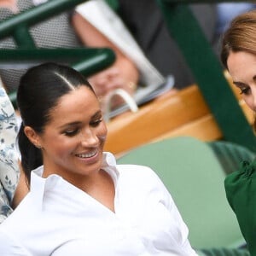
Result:
M31 171L43 165L41 149L35 147L24 133L24 127L30 126L39 135L49 123L50 111L55 108L61 96L79 86L93 91L84 76L71 67L56 63L44 63L32 67L20 79L17 91L17 105L22 124L18 134L21 154L21 166L30 182Z

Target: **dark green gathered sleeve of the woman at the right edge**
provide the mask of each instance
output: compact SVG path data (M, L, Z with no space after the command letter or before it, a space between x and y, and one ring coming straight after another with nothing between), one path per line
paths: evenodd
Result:
M256 255L256 160L243 161L238 171L225 178L224 185L247 247Z

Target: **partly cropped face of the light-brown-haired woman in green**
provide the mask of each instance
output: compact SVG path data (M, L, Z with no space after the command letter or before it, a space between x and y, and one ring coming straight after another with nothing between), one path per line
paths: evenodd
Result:
M246 51L230 52L228 69L233 83L241 90L247 106L256 111L256 55Z

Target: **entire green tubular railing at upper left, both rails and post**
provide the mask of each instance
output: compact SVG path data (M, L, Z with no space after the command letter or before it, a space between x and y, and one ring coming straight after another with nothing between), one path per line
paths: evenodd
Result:
M60 61L90 76L109 67L115 60L112 49L102 48L37 48L29 33L29 27L54 15L73 9L84 0L50 0L0 22L0 39L13 37L16 49L0 49L0 67L12 64L30 66L44 61ZM61 39L61 38L60 38ZM16 92L9 97L16 108Z

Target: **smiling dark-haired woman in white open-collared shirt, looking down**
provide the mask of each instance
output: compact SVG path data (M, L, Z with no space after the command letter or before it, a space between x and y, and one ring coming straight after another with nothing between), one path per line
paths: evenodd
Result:
M32 67L17 102L30 192L0 225L1 255L196 255L159 177L103 152L107 128L81 74Z

